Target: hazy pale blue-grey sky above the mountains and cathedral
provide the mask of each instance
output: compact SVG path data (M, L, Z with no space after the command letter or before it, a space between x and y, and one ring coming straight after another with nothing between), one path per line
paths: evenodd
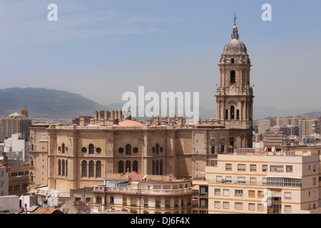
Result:
M58 6L49 21L48 5ZM263 4L272 21L263 21ZM255 106L321 107L321 1L1 0L0 88L66 90L108 105L123 93L200 92L215 106L233 14Z

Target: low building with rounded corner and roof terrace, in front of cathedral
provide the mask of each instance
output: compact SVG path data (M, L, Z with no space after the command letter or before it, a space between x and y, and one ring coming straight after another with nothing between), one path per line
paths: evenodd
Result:
M93 187L93 206L133 214L191 214L192 181L170 175L110 174Z

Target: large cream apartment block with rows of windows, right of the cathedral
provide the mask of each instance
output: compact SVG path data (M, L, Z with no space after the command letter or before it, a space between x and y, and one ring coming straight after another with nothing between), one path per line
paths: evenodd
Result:
M208 162L193 213L319 214L320 147L239 149Z

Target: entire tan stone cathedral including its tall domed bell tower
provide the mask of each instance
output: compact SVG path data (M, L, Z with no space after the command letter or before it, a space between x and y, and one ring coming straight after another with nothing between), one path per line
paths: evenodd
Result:
M96 110L93 118L66 125L33 125L29 186L69 192L123 172L193 180L204 177L205 166L219 153L252 147L251 65L236 24L218 66L216 117L210 120L189 125L170 115L141 123L121 110Z

